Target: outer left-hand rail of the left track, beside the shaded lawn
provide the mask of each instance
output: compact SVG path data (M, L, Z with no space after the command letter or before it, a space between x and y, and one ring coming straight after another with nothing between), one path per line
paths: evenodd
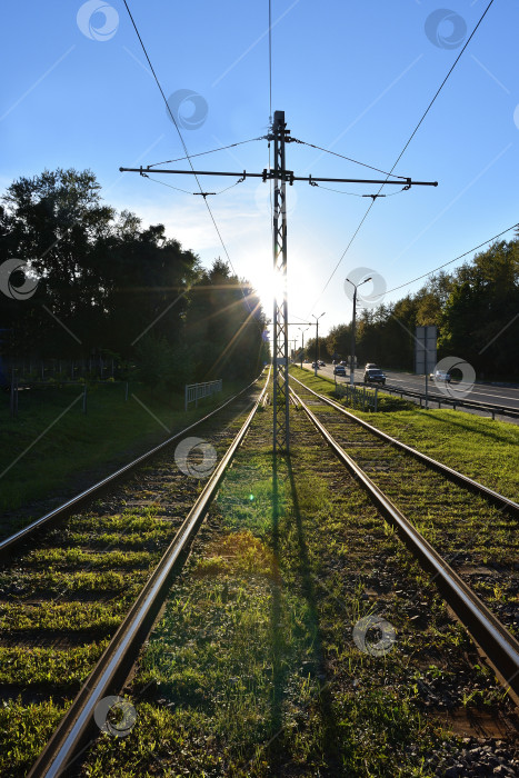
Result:
M79 495L76 495L70 500L67 500L67 502L63 502L63 505L51 510L49 513L46 513L44 516L40 517L39 519L31 521L30 525L28 525L27 527L23 527L23 529L20 529L18 532L14 532L10 537L6 538L4 540L1 540L0 541L0 559L2 557L4 557L8 551L9 552L12 551L29 535L31 535L36 530L40 529L43 526L50 526L54 521L57 521L58 519L63 519L67 516L70 516L74 510L77 510L80 506L84 505L88 500L91 500L93 497L98 496L100 492L102 492L108 487L113 486L119 479L123 478L124 476L128 476L139 465L142 465L148 459L154 457L163 448L166 448L167 446L170 446L172 442L174 442L176 440L178 440L179 438L184 436L187 432L189 432L190 430L192 430L196 427L198 427L199 425L201 425L203 421L207 421L209 418L211 418L211 416L219 413L223 408L226 408L226 406L233 402L238 397L240 397L243 392L246 392L248 389L250 389L256 383L257 380L258 379L254 379L244 389L242 389L241 391L233 395L231 398L226 400L226 402L223 402L221 406L219 406L218 408L212 410L210 413L207 413L204 417L202 417L198 421L194 421L189 427L186 427L186 429L182 429L180 432L176 432L176 435L173 435L171 438L168 438L163 442L159 443L159 446L156 446L150 451L147 451L146 453L141 455L140 457L138 457L133 461L129 462L128 465L124 465L122 468L120 468L119 470L116 470L116 472L112 472L110 476L107 476L101 481L93 483L93 486L89 487L84 491L81 491Z

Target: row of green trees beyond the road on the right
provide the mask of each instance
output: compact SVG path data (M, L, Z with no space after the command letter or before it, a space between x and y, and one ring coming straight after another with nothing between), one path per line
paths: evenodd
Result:
M358 363L413 369L417 326L437 325L438 358L457 356L485 376L513 377L511 355L519 336L519 241L500 241L452 273L439 272L413 295L360 311L356 327ZM335 327L329 353L351 351L351 325Z

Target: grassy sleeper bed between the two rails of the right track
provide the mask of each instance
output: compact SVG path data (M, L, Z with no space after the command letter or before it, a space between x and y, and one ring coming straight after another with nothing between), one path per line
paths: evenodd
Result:
M297 386L343 450L517 634L518 503Z

